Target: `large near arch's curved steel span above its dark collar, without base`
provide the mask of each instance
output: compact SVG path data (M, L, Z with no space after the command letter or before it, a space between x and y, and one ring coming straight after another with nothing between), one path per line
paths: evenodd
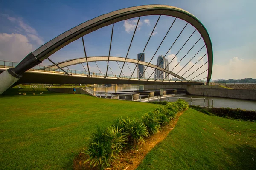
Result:
M108 14L101 15L99 17L88 20L66 32L50 40L46 44L42 45L40 48L33 52L33 55L40 61L43 61L50 55L54 54L56 51L60 50L69 43L79 39L80 37L89 34L99 28L111 25L113 23L127 20L134 17L147 16L147 15L167 15L172 17L177 17L194 26L198 32L203 37L206 44L208 53L208 78L207 82L211 79L212 75L212 62L213 62L213 52L212 43L209 34L204 27L204 25L198 20L194 15L190 14L181 8L167 5L144 5L144 6L134 6L130 8L124 8L117 11L110 12Z

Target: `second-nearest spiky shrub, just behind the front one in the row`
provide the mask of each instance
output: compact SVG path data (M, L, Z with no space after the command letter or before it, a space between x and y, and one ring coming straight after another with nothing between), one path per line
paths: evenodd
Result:
M137 145L139 141L144 142L144 137L148 136L146 125L135 117L126 117L126 119L118 117L118 119L114 121L113 126L120 130L122 129L122 133L125 134L130 146L134 144Z

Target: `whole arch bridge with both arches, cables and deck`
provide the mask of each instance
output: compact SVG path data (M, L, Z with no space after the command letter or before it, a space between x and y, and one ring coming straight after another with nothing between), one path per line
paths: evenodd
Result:
M149 16L149 15L157 15L158 20L154 25L153 30L151 31L151 34L147 40L147 43L145 47L143 48L142 54L144 53L145 49L148 46L148 42L150 41L153 32L155 31L155 28L157 26L158 21L160 20L161 16L170 16L173 17L174 20L169 27L169 30L166 32L165 37L161 41L160 45L158 46L157 50L155 51L153 57L151 58L150 62L144 62L141 60L142 55L139 59L130 59L128 58L128 54L131 48L131 44L134 40L135 32L138 28L138 24L140 22L140 17L143 16ZM131 37L131 42L128 47L128 51L126 53L125 57L113 57L110 56L111 52L111 43L112 43L112 37L113 37L113 29L114 24L123 21L128 20L131 18L137 18L136 27L134 29L134 32ZM177 19L181 19L186 22L186 25L183 29L181 29L180 34L176 37L175 41L170 45L170 48L166 52L166 54L162 57L159 64L154 65L151 63L152 59L154 58L155 54L157 54L158 49L162 45L163 41L166 39L167 34L169 34L169 31L171 30L172 26L175 24L175 21ZM198 50L197 53L192 54L190 56L190 60L186 63L186 65L183 66L186 67L189 65L190 61L195 58L195 56L203 49L206 48L207 53L198 59L198 61L190 67L188 71L192 71L193 68L202 58L207 56L207 62L204 63L204 65L208 65L207 69L201 73L198 74L198 70L204 66L202 65L200 68L192 72L192 74L188 77L183 77L183 75L180 75L180 71L174 72L174 69L177 67L175 65L171 69L169 69L169 65L172 63L173 59L164 67L160 66L160 63L164 61L166 58L166 55L168 52L172 49L173 45L177 40L181 37L180 35L183 33L186 26L190 24L195 28L195 31L191 34L191 36L186 40L184 45L189 41L189 39L192 37L192 35L197 31L201 37L195 42L195 44L189 49L189 51L184 55L184 57L177 63L180 64L180 62L189 54L189 52L192 50L192 48L195 47L195 45L200 41L204 41L204 45L201 49ZM84 39L83 37L87 34L96 31L100 28L103 28L105 26L112 25L112 31L111 31L111 41L109 46L109 53L106 56L96 56L96 57L87 57L86 54L86 48L84 45ZM63 48L64 46L70 44L71 42L81 38L83 42L84 47L84 55L83 58L78 59L71 59L64 62L55 63L49 57ZM184 45L180 48L180 50L177 52L177 54L180 53ZM177 56L176 54L176 56ZM190 55L190 54L189 54ZM188 55L188 56L189 56ZM206 58L206 57L205 57ZM38 69L34 69L45 59L48 59L50 62L52 62L52 65L46 66L46 67L38 67ZM105 61L106 62L106 71L104 73L101 72L99 68L99 76L95 76L95 73L92 74L90 72L90 67L88 65L89 62L100 62ZM114 76L110 76L110 71L112 72L109 62L115 61L119 65L121 62L122 64L119 65L120 68L120 74L116 74ZM88 20L87 22L81 23L80 25L71 28L70 30L64 32L63 34L60 34L58 37L55 37L54 39L50 40L49 42L45 43L32 53L28 54L20 63L17 64L14 68L9 68L6 70L6 68L0 69L2 73L0 74L0 94L3 93L7 88L12 86L15 82L19 83L30 83L30 82L37 82L37 83L74 83L74 82L80 82L80 83L88 83L88 84L195 84L199 83L202 84L200 81L202 79L206 79L206 82L209 83L211 79L212 74L212 62L213 62L213 53L212 53L212 44L209 37L209 34L204 27L204 25L192 14L189 12L173 7L173 6L166 6L166 5L145 5L145 6L134 6L130 8L124 8L117 11L110 12L108 14L101 15L99 17L93 18L92 20ZM132 63L135 65L134 69L130 69L131 75L125 76L123 74L123 69L125 66L125 63ZM83 65L85 74L77 75L76 73L73 74L70 73L70 69L68 66L71 65L77 65L81 64ZM128 64L127 64L128 65ZM128 66L129 67L129 66ZM140 71L138 67L143 67L143 70ZM67 68L67 69L65 69ZM151 75L148 74L148 77L145 77L145 71L147 71L147 68L152 68L153 72ZM139 77L134 77L134 72L137 69L137 72L140 71ZM202 79L196 79L201 74L207 73L207 77L204 77ZM83 73L83 72L82 72ZM156 74L157 73L157 74ZM123 74L123 75L122 75ZM151 76L155 74L154 78L151 78ZM164 76L163 76L164 75ZM196 76L195 76L196 75ZM61 78L62 77L62 78ZM172 77L172 78L170 78ZM193 77L193 78L192 78Z

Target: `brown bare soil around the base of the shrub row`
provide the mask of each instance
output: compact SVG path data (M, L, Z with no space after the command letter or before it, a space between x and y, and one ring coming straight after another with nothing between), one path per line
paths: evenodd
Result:
M136 148L124 151L122 155L116 157L111 168L106 168L106 170L135 170L147 153L165 139L168 133L172 131L182 113L183 112L178 113L176 118L171 120L168 125L164 126L159 133L145 139L145 143L140 142ZM83 153L80 153L74 160L74 170L96 170L96 168L91 168L88 162L86 164L83 163L86 159L87 157Z

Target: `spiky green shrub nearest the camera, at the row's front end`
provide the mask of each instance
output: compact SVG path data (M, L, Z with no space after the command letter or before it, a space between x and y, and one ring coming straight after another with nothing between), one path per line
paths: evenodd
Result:
M96 132L90 137L87 149L82 152L89 156L85 162L90 161L90 166L100 169L109 167L115 155L122 151L125 141L122 129L113 126L108 129L97 126Z

